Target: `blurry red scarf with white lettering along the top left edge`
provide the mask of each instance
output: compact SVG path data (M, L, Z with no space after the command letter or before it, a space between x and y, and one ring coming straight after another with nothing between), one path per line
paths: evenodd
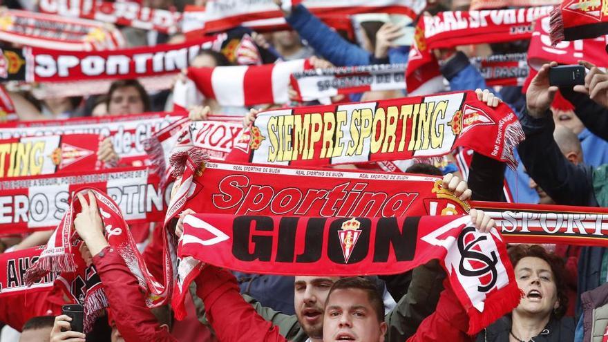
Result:
M157 30L174 34L180 30L182 13L144 7L135 1L41 0L39 10L62 17L93 19L104 23Z

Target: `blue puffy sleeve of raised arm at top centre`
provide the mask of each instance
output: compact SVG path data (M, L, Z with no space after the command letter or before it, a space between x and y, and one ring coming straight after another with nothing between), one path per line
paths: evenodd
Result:
M329 28L304 6L292 8L292 14L285 18L298 31L302 39L312 46L316 53L332 62L334 66L364 66L370 64L371 53L357 45L350 44Z

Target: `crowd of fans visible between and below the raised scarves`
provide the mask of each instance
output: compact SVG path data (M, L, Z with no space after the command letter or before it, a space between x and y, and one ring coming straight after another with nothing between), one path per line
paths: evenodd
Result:
M34 9L23 1L8 1L13 8ZM157 2L157 1L155 1ZM281 0L274 0L281 6ZM155 8L181 8L183 3L160 1ZM200 5L200 3L199 3ZM249 32L263 62L280 63L310 58L319 68L406 63L407 46L392 41L403 32L392 23L365 25L361 44L349 41L322 23L302 4L285 10L291 30L272 33ZM445 10L466 10L466 0L428 1L426 15ZM154 46L181 42L181 34L149 35L124 28L131 46ZM485 44L434 51L441 73L452 91L476 90L488 106L509 104L522 124L525 140L517 147L521 167L516 172L504 163L473 154L468 184L448 155L437 168L414 164L407 172L444 176L444 186L466 199L503 202L506 178L513 187L516 202L608 206L607 167L608 76L600 68L587 67L584 86L560 88L573 110L552 110L558 92L549 84L546 64L538 70L526 92L519 86L492 89L486 86L470 57L502 52L525 52L526 44ZM506 50L506 51L505 51ZM608 57L608 55L607 55ZM234 59L214 50L202 50L192 61L196 67L236 65ZM184 75L175 82L183 82ZM591 94L591 95L589 95ZM137 79L113 82L105 95L65 97L39 101L29 93L10 93L19 120L48 120L67 117L128 115L149 111L170 111L171 91L149 93ZM292 97L293 91L291 92ZM400 91L368 91L337 95L333 102L359 102L406 97ZM314 103L292 101L290 106ZM256 108L221 106L207 98L189 108L192 120L205 120L209 114L243 117L245 126L255 120ZM99 145L97 157L108 165L118 165L120 156L110 138ZM456 175L453 175L455 173ZM516 184L521 184L520 186ZM470 191L465 191L469 189ZM86 243L84 254L95 265L110 310L98 319L93 332L70 330L71 319L61 315L63 298L52 292L28 294L28 298L0 298L0 321L6 323L0 341L605 341L608 325L608 253L603 247L570 245L511 245L509 256L515 269L522 298L513 311L488 325L477 336L467 336L466 315L455 301L446 274L437 262L421 265L411 272L393 276L338 278L268 276L228 272L206 267L196 279L187 298L189 315L176 321L171 308L149 310L137 290L135 278L117 252L108 247L93 200L78 197L83 210L75 229ZM89 205L87 205L89 203ZM477 229L487 231L494 222L482 211L471 213ZM177 223L178 233L182 221ZM96 227L97 229L86 229ZM149 225L149 238L142 244L146 260L160 263L153 246L158 243L160 225ZM4 251L43 245L50 237L43 231L29 236L0 239ZM238 293L240 292L240 294ZM32 316L30 312L36 312ZM40 313L46 313L41 316ZM17 323L15 323L17 322ZM19 325L17 325L19 324Z

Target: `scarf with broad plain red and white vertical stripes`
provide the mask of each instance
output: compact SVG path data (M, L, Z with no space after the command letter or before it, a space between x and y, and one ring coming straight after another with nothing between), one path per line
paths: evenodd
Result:
M310 68L306 59L260 66L218 66L188 68L188 77L205 97L221 106L284 104L292 73Z

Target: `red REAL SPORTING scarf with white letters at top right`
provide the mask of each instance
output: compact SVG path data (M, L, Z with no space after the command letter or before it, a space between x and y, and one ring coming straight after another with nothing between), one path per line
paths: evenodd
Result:
M431 50L459 45L502 43L529 39L535 19L548 15L551 6L509 10L439 12L421 17Z

